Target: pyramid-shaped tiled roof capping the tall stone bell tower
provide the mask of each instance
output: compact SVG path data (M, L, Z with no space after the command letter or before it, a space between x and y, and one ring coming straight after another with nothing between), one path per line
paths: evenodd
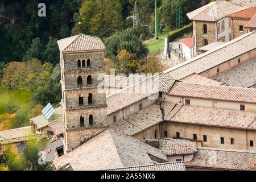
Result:
M61 52L104 50L106 47L100 38L79 34L69 38L58 40Z

